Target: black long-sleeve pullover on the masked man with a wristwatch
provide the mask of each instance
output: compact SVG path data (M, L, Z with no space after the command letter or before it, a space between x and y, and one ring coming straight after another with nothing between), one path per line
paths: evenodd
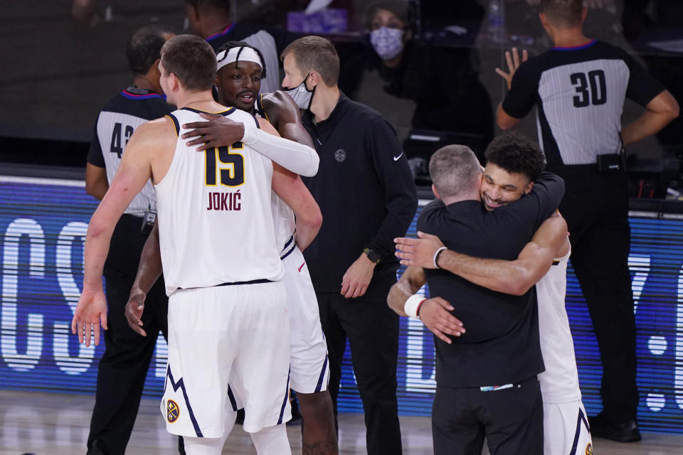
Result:
M380 253L378 267L396 266L393 239L415 215L415 183L391 124L343 93L327 119L314 124L307 112L303 124L320 157L317 175L303 180L322 211L304 255L315 290L339 292L365 247Z

